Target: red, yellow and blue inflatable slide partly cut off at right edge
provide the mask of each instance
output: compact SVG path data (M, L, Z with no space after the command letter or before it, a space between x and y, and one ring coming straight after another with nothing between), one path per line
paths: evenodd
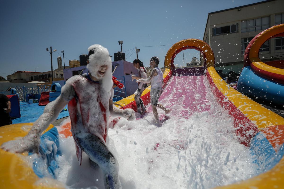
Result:
M256 35L245 50L244 67L237 90L261 102L284 107L284 60L263 62L259 49L268 39L284 37L284 24L268 28ZM283 39L282 39L283 40Z

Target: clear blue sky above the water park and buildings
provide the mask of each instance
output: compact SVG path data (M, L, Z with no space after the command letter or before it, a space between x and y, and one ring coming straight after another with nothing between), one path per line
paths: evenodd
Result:
M149 66L149 59L164 56L182 39L203 38L208 12L260 2L260 0L187 0L187 1L44 1L2 0L0 7L1 45L0 76L14 71L49 71L51 61L46 48L52 46L53 69L64 50L68 60L79 60L92 44L105 46L110 55L121 50L124 41L126 61L138 58ZM155 46L155 47L142 47ZM199 52L193 49L179 53L175 64L191 61ZM113 57L112 57L113 61ZM62 56L63 64L63 56Z

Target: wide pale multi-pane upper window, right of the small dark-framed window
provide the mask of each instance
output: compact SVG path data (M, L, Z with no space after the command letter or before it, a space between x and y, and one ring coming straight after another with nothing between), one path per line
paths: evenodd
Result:
M241 32L264 30L267 28L269 28L269 16L251 20L243 20L241 22Z

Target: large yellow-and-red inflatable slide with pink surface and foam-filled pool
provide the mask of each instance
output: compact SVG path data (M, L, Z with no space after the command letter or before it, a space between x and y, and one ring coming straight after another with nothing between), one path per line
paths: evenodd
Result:
M189 48L201 52L205 60L204 65L202 67L175 69L174 58L179 52ZM272 186L283 188L284 118L231 88L218 75L214 63L215 58L212 49L199 39L185 39L174 44L165 56L163 78L166 85L164 85L159 101L167 102L166 107L172 110L172 120L191 119L191 116L196 112L206 112L212 108L210 107L212 105L206 99L206 96L210 93L222 106L224 112L229 114L239 143L249 148L255 163L261 167L261 173L247 180L217 188L272 188ZM205 82L208 85L205 85ZM151 86L146 88L141 96L145 105L149 104L150 90ZM122 109L133 108L135 110L134 95L116 102L115 105ZM151 107L148 107L148 111L151 111ZM161 114L160 116L162 118L164 115ZM208 114L208 116L213 117L212 114ZM0 138L0 144L23 137L31 125L31 123L15 124L0 128L1 136L3 136ZM161 127L164 127L164 125ZM64 123L62 128L58 133L55 127L50 126L47 132L42 135L40 151L43 152L43 156L46 156L45 162L52 178L55 178L54 170L57 168L55 156L60 155L60 151L54 150L59 148L57 137L60 133L64 137L71 135L70 122ZM180 125L180 128L184 128L184 126ZM60 136L62 137L62 135ZM45 144L45 141L49 140L55 141L54 145L56 146L53 146L54 148L51 148L50 143ZM156 147L158 148L158 144ZM185 148L186 145L180 145L178 149L185 150ZM49 153L45 153L47 150L49 150ZM4 170L1 171L0 176L2 186L6 188L41 188L45 186L45 182L50 180L42 180L44 174L38 171L35 166L26 165L23 156L28 156L28 154L12 154L0 150L1 169ZM162 154L159 156L162 156ZM39 164L36 162L34 165ZM54 187L60 188L62 186L56 185Z

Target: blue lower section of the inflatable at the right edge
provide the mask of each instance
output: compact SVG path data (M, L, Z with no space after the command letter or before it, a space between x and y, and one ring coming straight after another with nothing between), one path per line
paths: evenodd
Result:
M284 105L284 85L256 75L250 66L243 68L237 83L237 90L253 100Z

